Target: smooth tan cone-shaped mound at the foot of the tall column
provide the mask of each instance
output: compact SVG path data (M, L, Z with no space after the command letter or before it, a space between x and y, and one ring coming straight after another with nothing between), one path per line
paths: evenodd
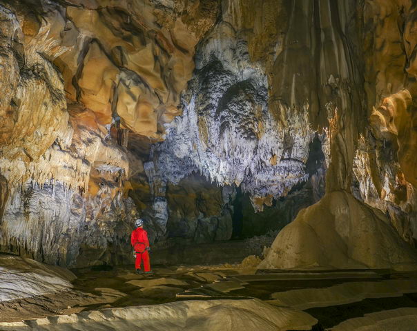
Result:
M275 239L260 269L417 268L416 251L380 210L346 192L326 194Z

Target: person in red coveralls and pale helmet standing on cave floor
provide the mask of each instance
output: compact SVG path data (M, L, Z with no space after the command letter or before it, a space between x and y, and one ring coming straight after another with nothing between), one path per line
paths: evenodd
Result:
M136 257L135 269L137 274L142 274L140 263L144 261L145 274L152 274L151 263L149 261L149 240L148 232L144 230L144 221L137 219L135 221L136 229L132 231L130 243L133 246L133 256Z

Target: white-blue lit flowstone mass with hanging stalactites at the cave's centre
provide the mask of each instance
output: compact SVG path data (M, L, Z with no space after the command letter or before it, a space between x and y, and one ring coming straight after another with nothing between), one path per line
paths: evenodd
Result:
M228 14L197 48L183 114L166 125L165 141L153 149L154 167L162 183L198 171L217 185L242 185L262 210L264 202L307 180L313 130L308 106L294 114L294 126L275 121L264 68L251 61Z

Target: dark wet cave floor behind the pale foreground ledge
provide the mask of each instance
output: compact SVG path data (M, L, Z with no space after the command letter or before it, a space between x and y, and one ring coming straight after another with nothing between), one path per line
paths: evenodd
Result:
M390 330L383 327L390 321L396 321L395 330L414 330L407 325L417 325L415 272L256 271L238 265L153 270L155 274L146 277L135 274L133 265L73 270L74 290L1 303L1 321L182 300L257 298L307 312L318 320L312 330Z

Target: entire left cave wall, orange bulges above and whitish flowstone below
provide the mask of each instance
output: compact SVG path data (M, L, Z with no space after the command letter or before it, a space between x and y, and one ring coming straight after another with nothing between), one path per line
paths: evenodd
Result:
M144 171L128 132L157 141L179 114L218 9L171 4L0 1L1 250L61 265L126 258L137 210L125 184Z

